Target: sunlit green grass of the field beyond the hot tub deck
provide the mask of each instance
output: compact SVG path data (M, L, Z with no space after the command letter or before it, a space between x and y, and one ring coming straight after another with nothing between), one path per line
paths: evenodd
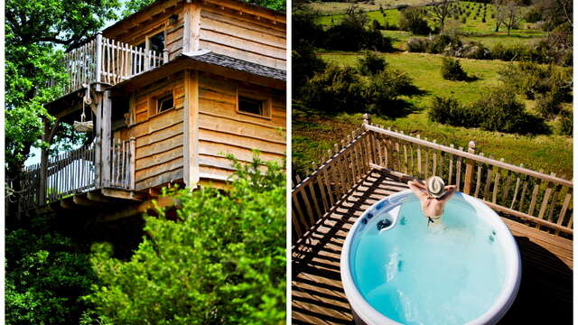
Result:
M545 172L572 177L571 137L561 135L508 135L488 132L480 129L454 127L431 122L427 116L427 107L433 96L452 96L461 103L480 98L483 88L499 84L498 71L507 62L499 60L461 60L465 71L475 75L476 81L448 81L441 77L442 56L422 53L383 54L387 63L394 69L405 71L415 86L425 93L421 96L406 98L413 112L407 116L388 119L374 116L373 121L382 125L403 130L406 133L420 134L435 139L439 144L466 146L471 140L478 144L479 152L486 156L504 158L509 163L520 164ZM341 65L353 65L359 58L357 53L323 53L322 58ZM298 104L298 103L297 103ZM527 107L533 107L533 101L526 101ZM352 129L361 123L361 116L315 116L294 106L293 119L293 163L294 169L303 173L307 165L317 162L332 144L340 141Z

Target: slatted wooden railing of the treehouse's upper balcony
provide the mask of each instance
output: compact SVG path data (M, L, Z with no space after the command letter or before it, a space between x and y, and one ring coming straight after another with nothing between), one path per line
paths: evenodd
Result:
M65 93L94 82L116 85L162 65L168 61L166 54L168 52L147 51L98 34L90 42L64 54L63 64L69 75Z

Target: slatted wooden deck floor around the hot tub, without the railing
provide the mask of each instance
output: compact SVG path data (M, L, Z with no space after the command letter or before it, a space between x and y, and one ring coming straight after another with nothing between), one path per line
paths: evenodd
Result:
M340 279L345 237L361 213L378 200L405 190L406 184L382 172L370 172L338 203L329 218L293 251L294 324L353 324ZM573 320L572 241L538 232L503 218L522 256L522 280L516 302L500 324L571 324Z

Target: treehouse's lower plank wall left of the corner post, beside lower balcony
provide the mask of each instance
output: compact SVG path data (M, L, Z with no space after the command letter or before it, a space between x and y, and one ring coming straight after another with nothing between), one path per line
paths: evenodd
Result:
M155 114L154 98L166 91L172 91L174 108ZM142 88L136 93L136 124L122 136L134 136L136 139L135 190L182 179L183 103L182 73Z

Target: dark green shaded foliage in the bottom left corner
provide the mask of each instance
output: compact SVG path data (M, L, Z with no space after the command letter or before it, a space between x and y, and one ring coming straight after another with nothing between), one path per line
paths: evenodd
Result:
M70 238L18 229L6 233L6 324L74 324L88 306L80 297L96 278Z

